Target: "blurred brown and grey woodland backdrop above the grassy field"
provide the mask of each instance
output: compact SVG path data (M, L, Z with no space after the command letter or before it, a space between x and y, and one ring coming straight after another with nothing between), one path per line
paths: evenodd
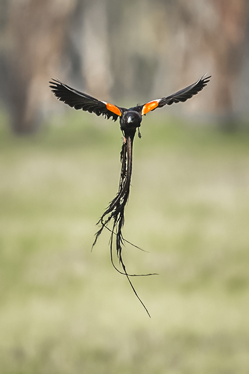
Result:
M2 0L0 10L0 91L16 132L63 110L51 77L132 106L208 72L205 93L170 110L231 126L248 113L247 0Z

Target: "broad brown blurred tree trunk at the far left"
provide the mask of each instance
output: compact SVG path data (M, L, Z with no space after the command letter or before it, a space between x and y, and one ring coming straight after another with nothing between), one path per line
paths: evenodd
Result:
M13 130L32 133L51 100L48 80L61 66L67 18L74 0L9 2L5 30L5 81Z

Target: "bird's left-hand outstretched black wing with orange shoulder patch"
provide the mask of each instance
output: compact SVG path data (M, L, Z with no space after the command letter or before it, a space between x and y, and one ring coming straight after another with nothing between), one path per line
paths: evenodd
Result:
M112 119L116 121L126 109L119 108L116 105L106 103L105 101L100 101L92 96L84 94L83 92L77 91L74 88L61 83L58 79L53 79L49 82L51 85L52 92L55 96L63 101L65 104L69 105L75 109L82 109L89 113L95 113L97 116L101 114L107 119L113 117Z

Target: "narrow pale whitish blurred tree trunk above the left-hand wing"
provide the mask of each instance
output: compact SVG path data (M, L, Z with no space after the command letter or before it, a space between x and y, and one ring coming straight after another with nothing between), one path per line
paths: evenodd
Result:
M78 80L84 80L86 92L108 99L113 84L107 0L79 0L71 25L74 49L79 56ZM76 75L72 72L73 80Z

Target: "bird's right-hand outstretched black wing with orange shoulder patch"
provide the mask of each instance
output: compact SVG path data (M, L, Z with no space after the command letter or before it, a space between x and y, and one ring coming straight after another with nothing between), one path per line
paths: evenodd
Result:
M156 108L161 108L164 105L171 105L173 103L179 103L179 101L184 102L187 99L190 99L192 96L196 95L199 91L201 91L209 82L209 77L206 77L206 74L203 75L197 82L191 84L190 86L183 88L183 90L177 91L176 93L163 97L161 99L156 99L153 101L150 101L149 103L146 103L141 106L141 114L144 115L151 110L154 110ZM139 107L140 109L140 107Z

